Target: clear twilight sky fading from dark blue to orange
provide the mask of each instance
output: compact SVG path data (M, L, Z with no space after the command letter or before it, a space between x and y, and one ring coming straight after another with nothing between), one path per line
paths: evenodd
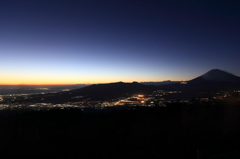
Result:
M1 0L0 84L240 76L240 2Z

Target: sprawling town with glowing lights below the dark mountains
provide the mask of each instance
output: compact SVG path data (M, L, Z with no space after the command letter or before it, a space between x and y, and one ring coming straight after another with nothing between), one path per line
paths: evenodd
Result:
M69 90L64 90L69 91ZM203 97L203 98L194 98L194 101L200 102L211 102L223 100L227 97L230 97L233 93L240 95L240 90L235 91L219 91L214 93L213 97ZM45 94L45 93L41 93ZM22 109L22 108L31 108L34 110L42 109L51 109L51 108L80 108L82 110L86 108L94 109L104 109L109 107L166 107L169 103L186 103L192 104L193 98L184 98L180 99L182 93L181 91L163 91L157 90L153 91L152 94L134 94L129 97L119 97L117 99L110 99L105 101L94 101L91 99L81 100L82 96L72 97L74 99L79 99L77 102L65 102L59 104L53 103L34 103L34 102L19 102L25 99L31 99L33 94L8 94L0 95L0 110L3 109Z

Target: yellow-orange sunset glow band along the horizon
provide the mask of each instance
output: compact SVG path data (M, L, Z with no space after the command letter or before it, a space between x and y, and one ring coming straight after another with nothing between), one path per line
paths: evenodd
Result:
M137 79L141 80L137 80ZM177 79L171 79L172 81L182 81ZM22 75L22 74L5 74L2 75L0 85L77 85L77 84L104 84L104 83L115 83L115 82L163 82L166 81L162 78L153 78L150 77L116 77L116 76L80 76L80 75L59 75L59 74L48 74L48 75Z

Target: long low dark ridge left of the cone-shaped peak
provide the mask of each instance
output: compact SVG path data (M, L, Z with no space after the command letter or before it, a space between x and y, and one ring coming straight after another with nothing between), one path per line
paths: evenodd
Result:
M109 100L119 97L128 97L134 94L150 94L156 90L156 86L147 86L137 82L132 83L108 83L93 84L80 89L66 92L49 93L43 95L33 95L31 101L34 102L74 102L79 100Z

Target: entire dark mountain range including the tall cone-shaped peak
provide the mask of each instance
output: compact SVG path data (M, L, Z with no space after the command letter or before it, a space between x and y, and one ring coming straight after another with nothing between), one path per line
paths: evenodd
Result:
M79 98L85 100L109 100L133 94L149 94L154 90L181 91L182 95L193 97L206 92L240 89L240 77L219 69L210 70L207 73L186 82L167 81L166 83L160 85L155 84L154 82L147 84L137 82L94 84L66 92L35 95L33 99L36 102L79 101ZM44 98L44 101L42 101L42 98Z

